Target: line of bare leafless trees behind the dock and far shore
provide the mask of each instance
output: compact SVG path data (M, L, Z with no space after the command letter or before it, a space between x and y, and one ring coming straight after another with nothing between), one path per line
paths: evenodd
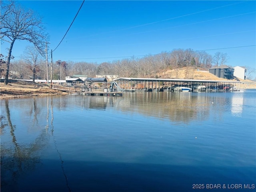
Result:
M224 59L221 59L220 55ZM168 70L178 70L182 67L208 70L213 63L214 65L224 64L226 58L227 55L220 52L211 56L205 51L174 49L171 52L149 54L142 58L131 57L100 64L58 60L52 65L52 79L64 80L66 76L73 76L74 74L87 75L88 77L117 75L119 77L161 78L160 72L164 74ZM50 74L50 71L47 73L46 65L46 60L35 48L27 47L20 60L10 62L10 74L18 79L47 79L47 74ZM50 70L49 67L48 70ZM2 75L4 75L4 70L2 70Z

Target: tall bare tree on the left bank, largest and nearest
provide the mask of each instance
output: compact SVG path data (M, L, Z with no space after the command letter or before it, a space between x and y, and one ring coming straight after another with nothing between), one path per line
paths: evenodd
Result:
M26 40L34 44L42 56L45 55L45 44L48 34L42 26L42 18L32 10L25 10L15 1L0 1L1 24L0 38L10 43L6 60L4 84L8 84L8 75L12 48L16 40Z

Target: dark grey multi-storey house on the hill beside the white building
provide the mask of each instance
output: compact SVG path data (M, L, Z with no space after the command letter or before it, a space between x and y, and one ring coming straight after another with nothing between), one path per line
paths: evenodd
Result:
M224 78L224 79L234 78L234 69L226 65L214 66L209 69L209 72L219 78Z

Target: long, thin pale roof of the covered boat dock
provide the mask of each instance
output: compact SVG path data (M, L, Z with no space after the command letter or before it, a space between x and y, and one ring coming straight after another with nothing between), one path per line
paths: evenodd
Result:
M130 80L130 81L160 81L160 82L228 82L228 83L241 83L240 81L224 81L224 80L199 80L199 79L162 79L162 78L127 78L120 77L116 80Z

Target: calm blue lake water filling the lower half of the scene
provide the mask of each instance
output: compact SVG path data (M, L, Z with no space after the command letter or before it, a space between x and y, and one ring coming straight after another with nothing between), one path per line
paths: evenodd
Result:
M256 90L0 105L2 192L256 189Z

